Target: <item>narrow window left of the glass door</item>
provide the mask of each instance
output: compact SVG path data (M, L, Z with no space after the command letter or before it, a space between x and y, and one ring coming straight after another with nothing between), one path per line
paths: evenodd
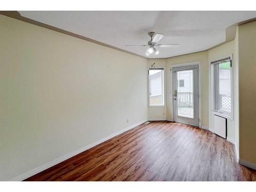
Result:
M164 105L163 72L163 69L148 70L148 103L150 106Z

